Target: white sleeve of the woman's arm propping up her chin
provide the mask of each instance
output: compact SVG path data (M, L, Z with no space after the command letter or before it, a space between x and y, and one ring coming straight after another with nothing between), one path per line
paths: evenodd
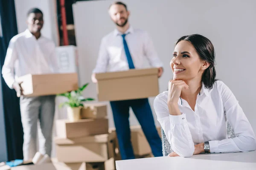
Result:
M192 156L195 146L187 124L186 114L170 115L167 103L161 98L161 94L154 100L154 110L172 150L182 157Z

